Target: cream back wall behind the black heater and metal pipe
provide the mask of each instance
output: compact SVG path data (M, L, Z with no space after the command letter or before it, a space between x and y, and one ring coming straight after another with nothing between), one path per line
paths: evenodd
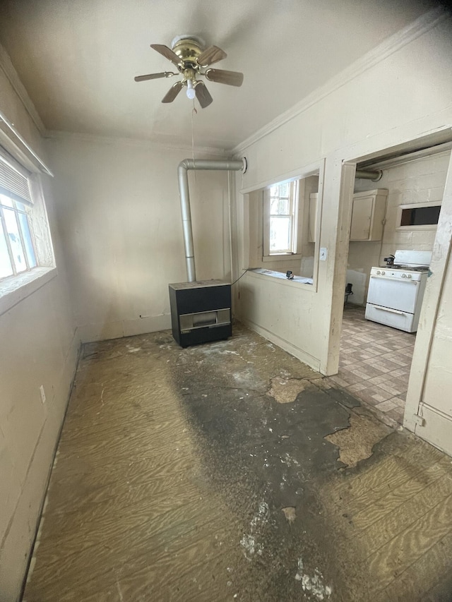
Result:
M47 150L81 339L169 328L168 284L187 279L177 166L191 152L80 136ZM228 280L227 172L190 171L189 186L196 277Z

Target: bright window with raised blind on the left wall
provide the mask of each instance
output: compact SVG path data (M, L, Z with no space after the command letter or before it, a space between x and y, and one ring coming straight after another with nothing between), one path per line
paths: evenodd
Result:
M6 151L0 154L0 279L37 266L30 228L29 172Z

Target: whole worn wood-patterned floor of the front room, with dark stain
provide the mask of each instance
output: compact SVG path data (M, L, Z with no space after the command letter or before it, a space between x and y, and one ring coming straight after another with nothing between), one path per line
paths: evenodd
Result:
M451 458L240 325L83 349L27 602L452 599Z

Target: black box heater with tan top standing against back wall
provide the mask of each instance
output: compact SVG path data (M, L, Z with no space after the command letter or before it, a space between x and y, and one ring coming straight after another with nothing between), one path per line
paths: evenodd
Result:
M169 284L172 335L181 347L232 335L231 285L221 280Z

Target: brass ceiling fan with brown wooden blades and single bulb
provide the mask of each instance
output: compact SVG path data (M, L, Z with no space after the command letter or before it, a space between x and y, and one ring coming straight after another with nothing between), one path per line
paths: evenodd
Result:
M210 96L205 83L197 79L198 76L203 76L212 82L242 85L243 73L210 68L210 65L218 63L227 56L218 46L206 48L206 43L196 35L179 35L174 38L171 46L169 48L163 44L150 44L151 48L169 59L177 67L179 73L164 71L163 73L150 73L147 76L137 76L135 78L136 82L141 82L182 75L183 79L169 88L162 102L173 102L182 88L186 87L187 97L192 99L196 96L203 109L208 107L213 98Z

